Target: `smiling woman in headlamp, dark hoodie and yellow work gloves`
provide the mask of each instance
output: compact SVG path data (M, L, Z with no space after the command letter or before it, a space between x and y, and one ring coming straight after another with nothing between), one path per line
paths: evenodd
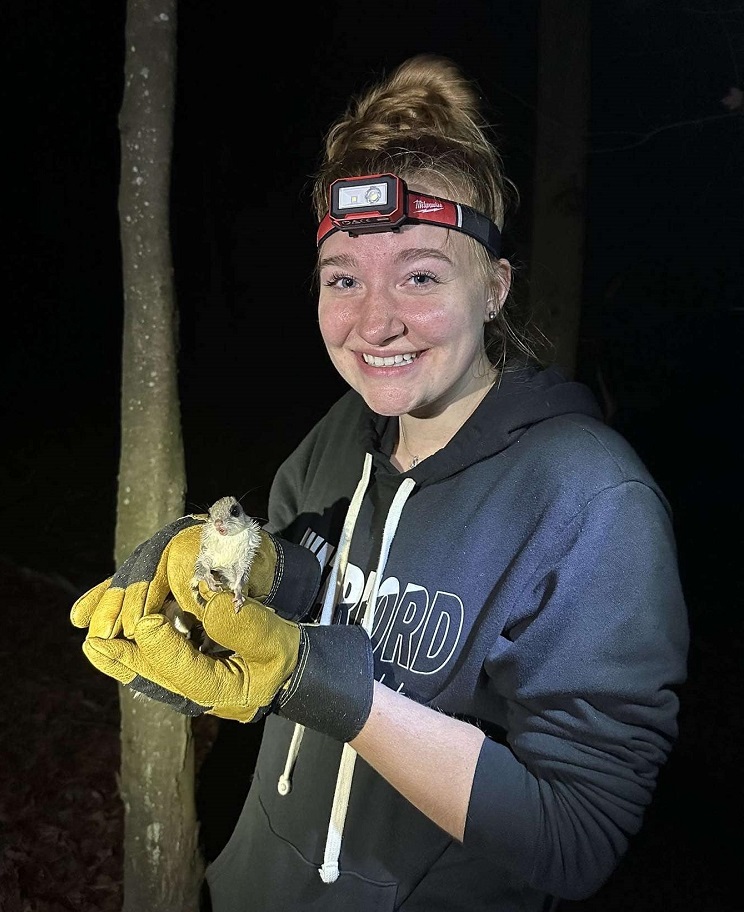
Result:
M352 100L314 187L320 329L351 389L277 472L266 577L239 614L229 593L195 608L201 520L149 545L232 657L107 603L136 555L73 608L118 680L269 713L215 912L555 908L641 826L685 676L669 507L590 392L536 363L509 188L450 61Z

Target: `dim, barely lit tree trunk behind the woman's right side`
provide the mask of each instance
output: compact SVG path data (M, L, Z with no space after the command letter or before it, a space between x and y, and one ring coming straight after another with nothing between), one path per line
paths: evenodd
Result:
M541 0L538 32L531 300L555 344L555 363L573 377L584 275L589 0Z

